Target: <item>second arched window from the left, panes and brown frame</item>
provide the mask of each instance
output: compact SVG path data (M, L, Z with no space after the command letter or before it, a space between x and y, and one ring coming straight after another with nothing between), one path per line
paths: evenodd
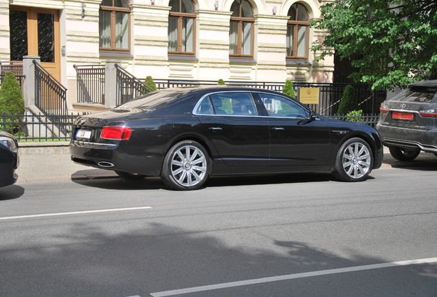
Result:
M168 52L194 55L196 14L191 0L170 0Z

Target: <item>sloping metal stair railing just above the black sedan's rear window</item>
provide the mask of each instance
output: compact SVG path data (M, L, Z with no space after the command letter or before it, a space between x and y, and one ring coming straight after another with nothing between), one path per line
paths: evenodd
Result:
M142 80L126 72L120 65L115 64L115 68L117 69L117 106L152 91Z

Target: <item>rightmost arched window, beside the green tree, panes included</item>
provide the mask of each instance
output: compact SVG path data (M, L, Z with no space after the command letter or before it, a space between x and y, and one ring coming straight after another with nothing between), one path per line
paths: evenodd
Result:
M289 10L287 23L287 58L308 60L309 13L304 5L295 3Z

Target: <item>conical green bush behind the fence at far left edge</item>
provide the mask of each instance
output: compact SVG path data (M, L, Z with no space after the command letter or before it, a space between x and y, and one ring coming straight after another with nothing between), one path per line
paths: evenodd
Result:
M21 87L12 72L6 72L3 84L0 88L0 115L23 115L24 100ZM2 117L4 119L4 117ZM3 120L2 120L3 122ZM0 129L9 133L16 133L20 130L21 117L6 117L5 126L0 125Z

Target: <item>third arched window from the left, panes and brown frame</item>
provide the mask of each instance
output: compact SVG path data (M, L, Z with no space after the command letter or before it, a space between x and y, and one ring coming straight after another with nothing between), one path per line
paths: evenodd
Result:
M254 12L247 0L235 0L231 6L229 56L254 56Z

